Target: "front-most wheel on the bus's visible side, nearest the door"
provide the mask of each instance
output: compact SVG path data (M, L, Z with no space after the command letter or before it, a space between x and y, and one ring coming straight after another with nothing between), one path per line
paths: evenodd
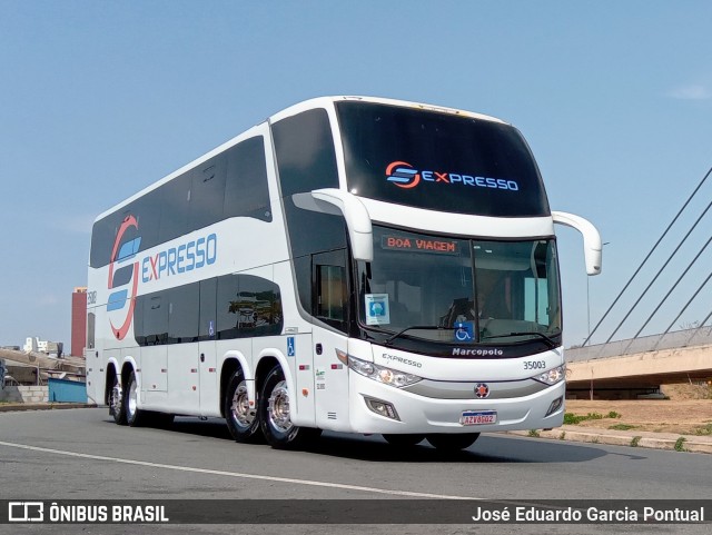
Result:
M275 449L296 449L322 434L322 429L297 427L291 423L289 392L279 366L267 374L257 405L263 434Z

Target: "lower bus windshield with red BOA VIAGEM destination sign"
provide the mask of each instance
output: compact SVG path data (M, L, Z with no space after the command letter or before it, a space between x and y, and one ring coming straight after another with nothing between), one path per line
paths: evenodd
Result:
M358 276L360 321L389 341L560 345L553 239L453 239L375 226L374 260L360 262Z

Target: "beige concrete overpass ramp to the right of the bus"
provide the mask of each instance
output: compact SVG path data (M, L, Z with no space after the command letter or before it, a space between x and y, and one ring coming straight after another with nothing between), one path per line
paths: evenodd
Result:
M571 348L567 396L635 398L660 385L712 380L712 327Z

